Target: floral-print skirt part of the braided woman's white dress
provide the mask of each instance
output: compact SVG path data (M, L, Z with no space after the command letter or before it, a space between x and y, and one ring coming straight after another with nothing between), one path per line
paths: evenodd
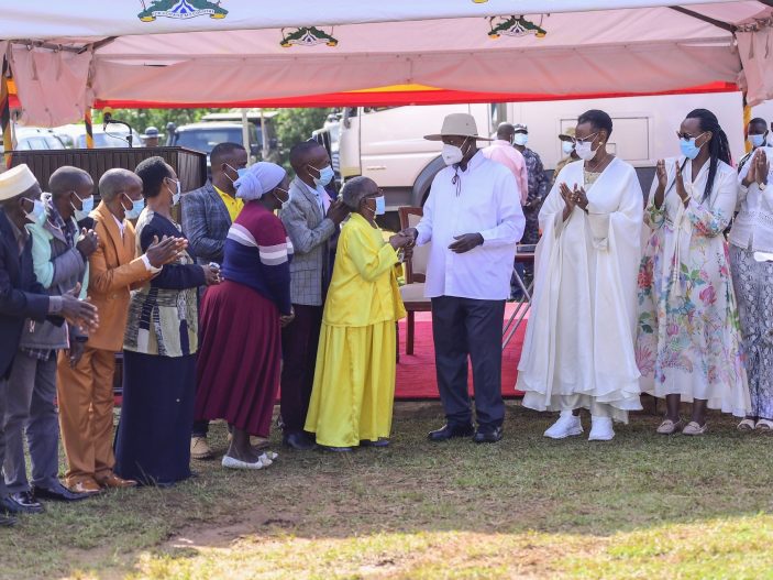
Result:
M692 236L664 267L667 227L650 237L639 270L636 355L642 392L742 417L749 389L724 237Z

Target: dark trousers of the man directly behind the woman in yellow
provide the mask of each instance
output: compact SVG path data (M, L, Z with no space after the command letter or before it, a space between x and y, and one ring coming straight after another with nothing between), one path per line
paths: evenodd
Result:
M294 304L292 324L281 329L281 422L286 434L300 433L314 384L322 307Z

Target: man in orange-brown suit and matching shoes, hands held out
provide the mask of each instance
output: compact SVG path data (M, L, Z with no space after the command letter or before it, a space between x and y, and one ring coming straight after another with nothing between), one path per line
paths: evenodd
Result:
M134 227L144 207L142 180L128 169L110 169L99 180L102 201L91 214L99 247L89 259L89 295L101 325L82 352L60 355L57 395L62 442L67 456L67 486L78 493L129 488L136 482L113 473L113 372L123 347L130 289L150 280L185 248L165 238L136 256Z

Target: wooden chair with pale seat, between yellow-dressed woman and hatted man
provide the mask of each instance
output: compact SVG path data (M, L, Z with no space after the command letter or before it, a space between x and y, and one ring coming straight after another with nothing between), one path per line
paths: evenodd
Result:
M421 220L423 210L420 207L401 207L398 209L400 227L416 228ZM400 295L408 313L406 321L406 354L413 354L413 339L416 332L416 313L429 313L432 303L424 298L424 282L427 281L427 263L429 262L431 242L413 248L413 255L406 260L406 285L400 287Z

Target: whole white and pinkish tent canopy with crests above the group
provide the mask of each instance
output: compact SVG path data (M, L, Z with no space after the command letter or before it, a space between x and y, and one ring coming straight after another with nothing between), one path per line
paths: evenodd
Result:
M407 84L528 98L729 83L752 105L773 97L773 1L663 4L27 0L3 8L0 51L22 120L48 125L95 101L214 107Z

